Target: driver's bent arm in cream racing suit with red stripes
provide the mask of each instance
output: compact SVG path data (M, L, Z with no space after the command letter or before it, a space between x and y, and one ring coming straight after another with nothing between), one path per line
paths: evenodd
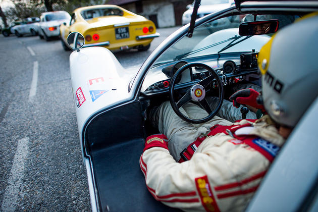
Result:
M258 152L227 142L233 138L224 133L205 139L191 160L181 164L161 139L146 141L140 168L156 200L185 211L243 210L263 175L244 180L269 165Z

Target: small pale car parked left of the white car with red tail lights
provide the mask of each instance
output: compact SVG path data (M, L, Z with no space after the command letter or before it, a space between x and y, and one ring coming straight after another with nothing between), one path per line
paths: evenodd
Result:
M12 27L11 33L15 34L17 37L22 37L25 34L37 35L38 33L38 22L40 19L38 17L28 17L22 20L20 25Z

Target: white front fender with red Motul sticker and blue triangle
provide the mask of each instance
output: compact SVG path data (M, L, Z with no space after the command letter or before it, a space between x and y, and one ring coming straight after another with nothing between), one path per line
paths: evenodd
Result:
M70 71L82 145L83 129L90 118L133 98L128 84L138 69L124 69L107 48L87 47L72 52Z

